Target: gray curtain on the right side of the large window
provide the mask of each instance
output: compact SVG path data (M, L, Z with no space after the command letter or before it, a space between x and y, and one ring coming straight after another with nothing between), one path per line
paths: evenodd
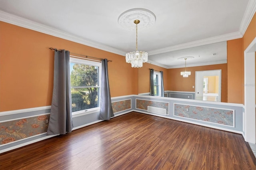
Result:
M108 59L102 59L101 62L100 120L109 120L114 117L114 113L108 82Z

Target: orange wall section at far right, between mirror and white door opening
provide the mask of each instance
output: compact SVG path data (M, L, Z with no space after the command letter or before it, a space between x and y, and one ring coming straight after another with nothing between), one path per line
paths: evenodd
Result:
M254 14L243 38L227 41L228 103L244 104L244 50L256 37Z

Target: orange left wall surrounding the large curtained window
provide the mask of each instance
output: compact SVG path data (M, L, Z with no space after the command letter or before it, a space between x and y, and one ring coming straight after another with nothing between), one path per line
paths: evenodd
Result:
M108 58L111 97L138 94L138 70L125 57L0 22L0 111L51 105L54 51Z

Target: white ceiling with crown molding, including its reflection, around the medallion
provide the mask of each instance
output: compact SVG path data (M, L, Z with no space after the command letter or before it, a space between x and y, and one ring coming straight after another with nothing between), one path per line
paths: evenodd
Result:
M185 56L194 56L188 66L226 63L224 41L243 36L256 0L0 0L0 20L125 55L135 51L136 32L122 28L118 17L132 8L156 16L150 28L138 24L138 51L148 52L150 63L175 68L184 67L178 58Z

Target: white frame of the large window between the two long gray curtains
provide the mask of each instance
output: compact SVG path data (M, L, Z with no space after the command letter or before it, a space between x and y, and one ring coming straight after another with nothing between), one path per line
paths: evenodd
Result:
M99 85L95 86L98 87L98 107L92 108L92 109L86 109L86 110L81 110L81 111L76 111L76 112L72 112L72 117L77 117L77 116L81 116L81 115L88 115L90 113L96 113L100 111L100 86L101 86L101 62L99 61L93 61L93 60L87 60L87 59L80 59L80 58L74 58L76 56L71 56L70 55L70 59L69 62L70 63L77 63L77 64L84 64L84 65L92 65L92 66L97 66L99 69ZM71 68L70 68L71 69ZM70 72L71 74L71 72ZM71 83L70 83L71 84ZM71 87L70 87L71 88ZM70 91L70 96L71 96L71 91Z

